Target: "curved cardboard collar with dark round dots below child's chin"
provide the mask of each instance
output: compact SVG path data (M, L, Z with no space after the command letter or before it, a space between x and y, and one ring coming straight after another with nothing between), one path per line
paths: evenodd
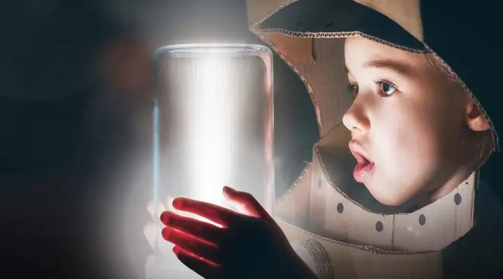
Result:
M392 250L442 250L474 225L476 172L432 204L411 213L384 214L358 204L331 181L317 146L313 157L308 227L312 232ZM337 213L337 204L344 204L344 213Z

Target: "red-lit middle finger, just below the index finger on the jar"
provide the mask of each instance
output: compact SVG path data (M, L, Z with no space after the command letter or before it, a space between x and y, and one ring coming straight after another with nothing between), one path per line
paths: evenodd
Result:
M161 222L168 227L172 227L186 234L191 234L198 239L209 241L215 245L219 245L221 239L225 237L224 234L226 232L226 229L194 218L180 216L172 211L164 211L161 213Z

